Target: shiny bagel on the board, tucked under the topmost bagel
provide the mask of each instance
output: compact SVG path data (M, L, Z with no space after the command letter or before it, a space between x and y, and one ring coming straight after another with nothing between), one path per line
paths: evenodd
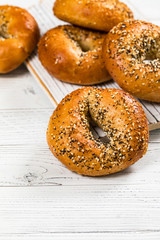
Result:
M110 80L102 59L106 34L70 25L49 30L38 44L46 70L64 82L91 85Z

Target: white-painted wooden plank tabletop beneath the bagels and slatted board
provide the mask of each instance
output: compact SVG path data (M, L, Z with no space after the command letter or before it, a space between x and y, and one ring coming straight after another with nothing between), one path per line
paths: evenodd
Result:
M0 4L27 7L36 1ZM146 14L154 1L143 1ZM24 66L0 76L0 239L159 240L160 130L151 132L147 154L132 167L82 177L48 149L52 111Z

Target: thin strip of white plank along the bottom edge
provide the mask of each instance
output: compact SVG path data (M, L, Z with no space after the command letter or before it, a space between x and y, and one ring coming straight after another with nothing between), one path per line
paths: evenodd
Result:
M91 233L53 233L53 232L38 232L33 234L1 234L0 240L159 240L159 231L104 231L104 232L91 232Z

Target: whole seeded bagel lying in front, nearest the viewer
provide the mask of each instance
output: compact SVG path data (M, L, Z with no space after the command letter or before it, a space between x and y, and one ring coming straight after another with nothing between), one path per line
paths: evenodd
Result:
M93 137L91 119L109 143ZM147 151L145 113L131 95L118 89L84 87L67 95L50 118L50 150L70 170L101 176L119 172Z

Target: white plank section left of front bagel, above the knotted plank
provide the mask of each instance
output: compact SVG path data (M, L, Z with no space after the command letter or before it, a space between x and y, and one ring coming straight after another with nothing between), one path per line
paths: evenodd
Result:
M46 130L52 109L0 110L0 144L46 142Z

